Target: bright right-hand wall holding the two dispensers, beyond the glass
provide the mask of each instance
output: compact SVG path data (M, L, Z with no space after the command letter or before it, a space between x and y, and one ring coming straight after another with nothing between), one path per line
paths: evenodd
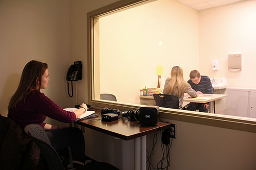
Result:
M241 1L199 11L200 71L224 77L228 87L255 87L256 1ZM228 54L242 53L242 71L228 70ZM219 60L219 70L211 69Z

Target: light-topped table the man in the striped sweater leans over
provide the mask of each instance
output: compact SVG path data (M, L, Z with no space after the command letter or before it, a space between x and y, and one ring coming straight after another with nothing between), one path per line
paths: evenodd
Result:
M198 94L197 98L189 98L187 93L184 94L183 102L194 102L194 103L208 103L209 102L209 113L214 113L214 101L226 98L228 94ZM140 95L141 105L156 105L153 96Z

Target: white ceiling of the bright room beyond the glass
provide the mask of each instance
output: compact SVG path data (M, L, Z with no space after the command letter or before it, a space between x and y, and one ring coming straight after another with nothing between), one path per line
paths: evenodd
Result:
M199 11L207 8L232 4L232 3L236 3L244 0L177 0L177 1Z

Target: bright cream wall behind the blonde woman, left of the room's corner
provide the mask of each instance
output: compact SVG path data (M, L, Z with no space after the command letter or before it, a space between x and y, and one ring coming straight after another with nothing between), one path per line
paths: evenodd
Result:
M199 69L198 11L176 1L103 16L99 35L100 93L112 93L118 102L140 104L139 90L157 87L157 65L165 79L176 65L185 80Z

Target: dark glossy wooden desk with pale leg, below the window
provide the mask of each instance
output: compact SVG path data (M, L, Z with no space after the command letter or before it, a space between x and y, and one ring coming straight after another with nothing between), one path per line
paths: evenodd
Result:
M100 110L89 110L94 110L95 114L99 114L98 119L101 118ZM168 123L158 122L155 127L146 127L140 125L138 122L131 122L126 118L119 118L115 122L88 120L90 119L79 120L76 124L123 140L134 139L134 169L146 169L146 135L170 128L170 124Z

